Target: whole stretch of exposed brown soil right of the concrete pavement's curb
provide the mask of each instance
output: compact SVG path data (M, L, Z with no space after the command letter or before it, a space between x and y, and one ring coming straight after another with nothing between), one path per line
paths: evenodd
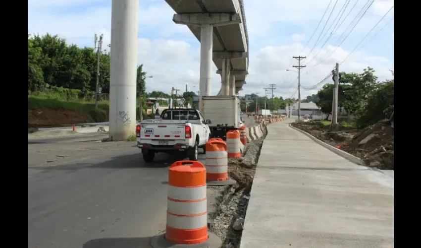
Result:
M319 121L293 123L316 138L344 150L361 159L362 164L379 169L394 169L394 133L387 120L370 125L362 130L345 127L331 131Z

